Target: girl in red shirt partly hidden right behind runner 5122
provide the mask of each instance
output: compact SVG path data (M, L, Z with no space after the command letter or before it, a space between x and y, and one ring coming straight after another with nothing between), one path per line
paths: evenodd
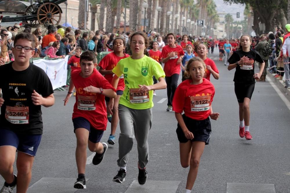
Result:
M202 43L197 45L196 52L197 52L197 55L206 64L204 78L206 78L207 80L210 80L210 76L212 74L213 78L218 80L220 78L220 74L219 74L218 68L216 67L215 62L213 60L211 60L210 58L207 58L206 54L208 53L208 50L206 48L206 45L204 45Z

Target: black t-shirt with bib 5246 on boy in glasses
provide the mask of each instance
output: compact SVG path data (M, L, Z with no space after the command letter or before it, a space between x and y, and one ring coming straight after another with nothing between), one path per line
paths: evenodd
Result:
M43 97L53 93L51 82L44 70L33 64L23 71L15 71L12 63L2 65L0 88L4 99L0 129L19 134L42 134L41 105L34 105L31 96L33 90Z

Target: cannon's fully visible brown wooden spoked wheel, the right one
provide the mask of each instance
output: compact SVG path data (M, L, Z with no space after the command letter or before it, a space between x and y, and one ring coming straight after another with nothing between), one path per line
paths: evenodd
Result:
M61 10L55 3L44 3L37 10L37 20L40 24L59 24L61 20Z

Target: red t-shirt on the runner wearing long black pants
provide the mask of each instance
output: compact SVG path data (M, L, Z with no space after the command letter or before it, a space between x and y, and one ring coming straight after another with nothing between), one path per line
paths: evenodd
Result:
M180 56L184 56L183 49L180 45L176 45L175 48L166 45L162 48L161 58L166 58L170 52L175 52L176 56L170 58L164 64L165 76L172 76L173 74L180 73L180 65L177 64L177 60Z

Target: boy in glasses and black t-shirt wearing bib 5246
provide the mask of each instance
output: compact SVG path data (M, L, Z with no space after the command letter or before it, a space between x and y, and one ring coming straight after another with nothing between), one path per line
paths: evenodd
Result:
M0 192L26 192L42 134L41 105L55 102L51 82L39 67L30 64L35 41L31 34L14 38L15 61L0 66L0 174L5 179ZM13 164L17 150L17 178Z

